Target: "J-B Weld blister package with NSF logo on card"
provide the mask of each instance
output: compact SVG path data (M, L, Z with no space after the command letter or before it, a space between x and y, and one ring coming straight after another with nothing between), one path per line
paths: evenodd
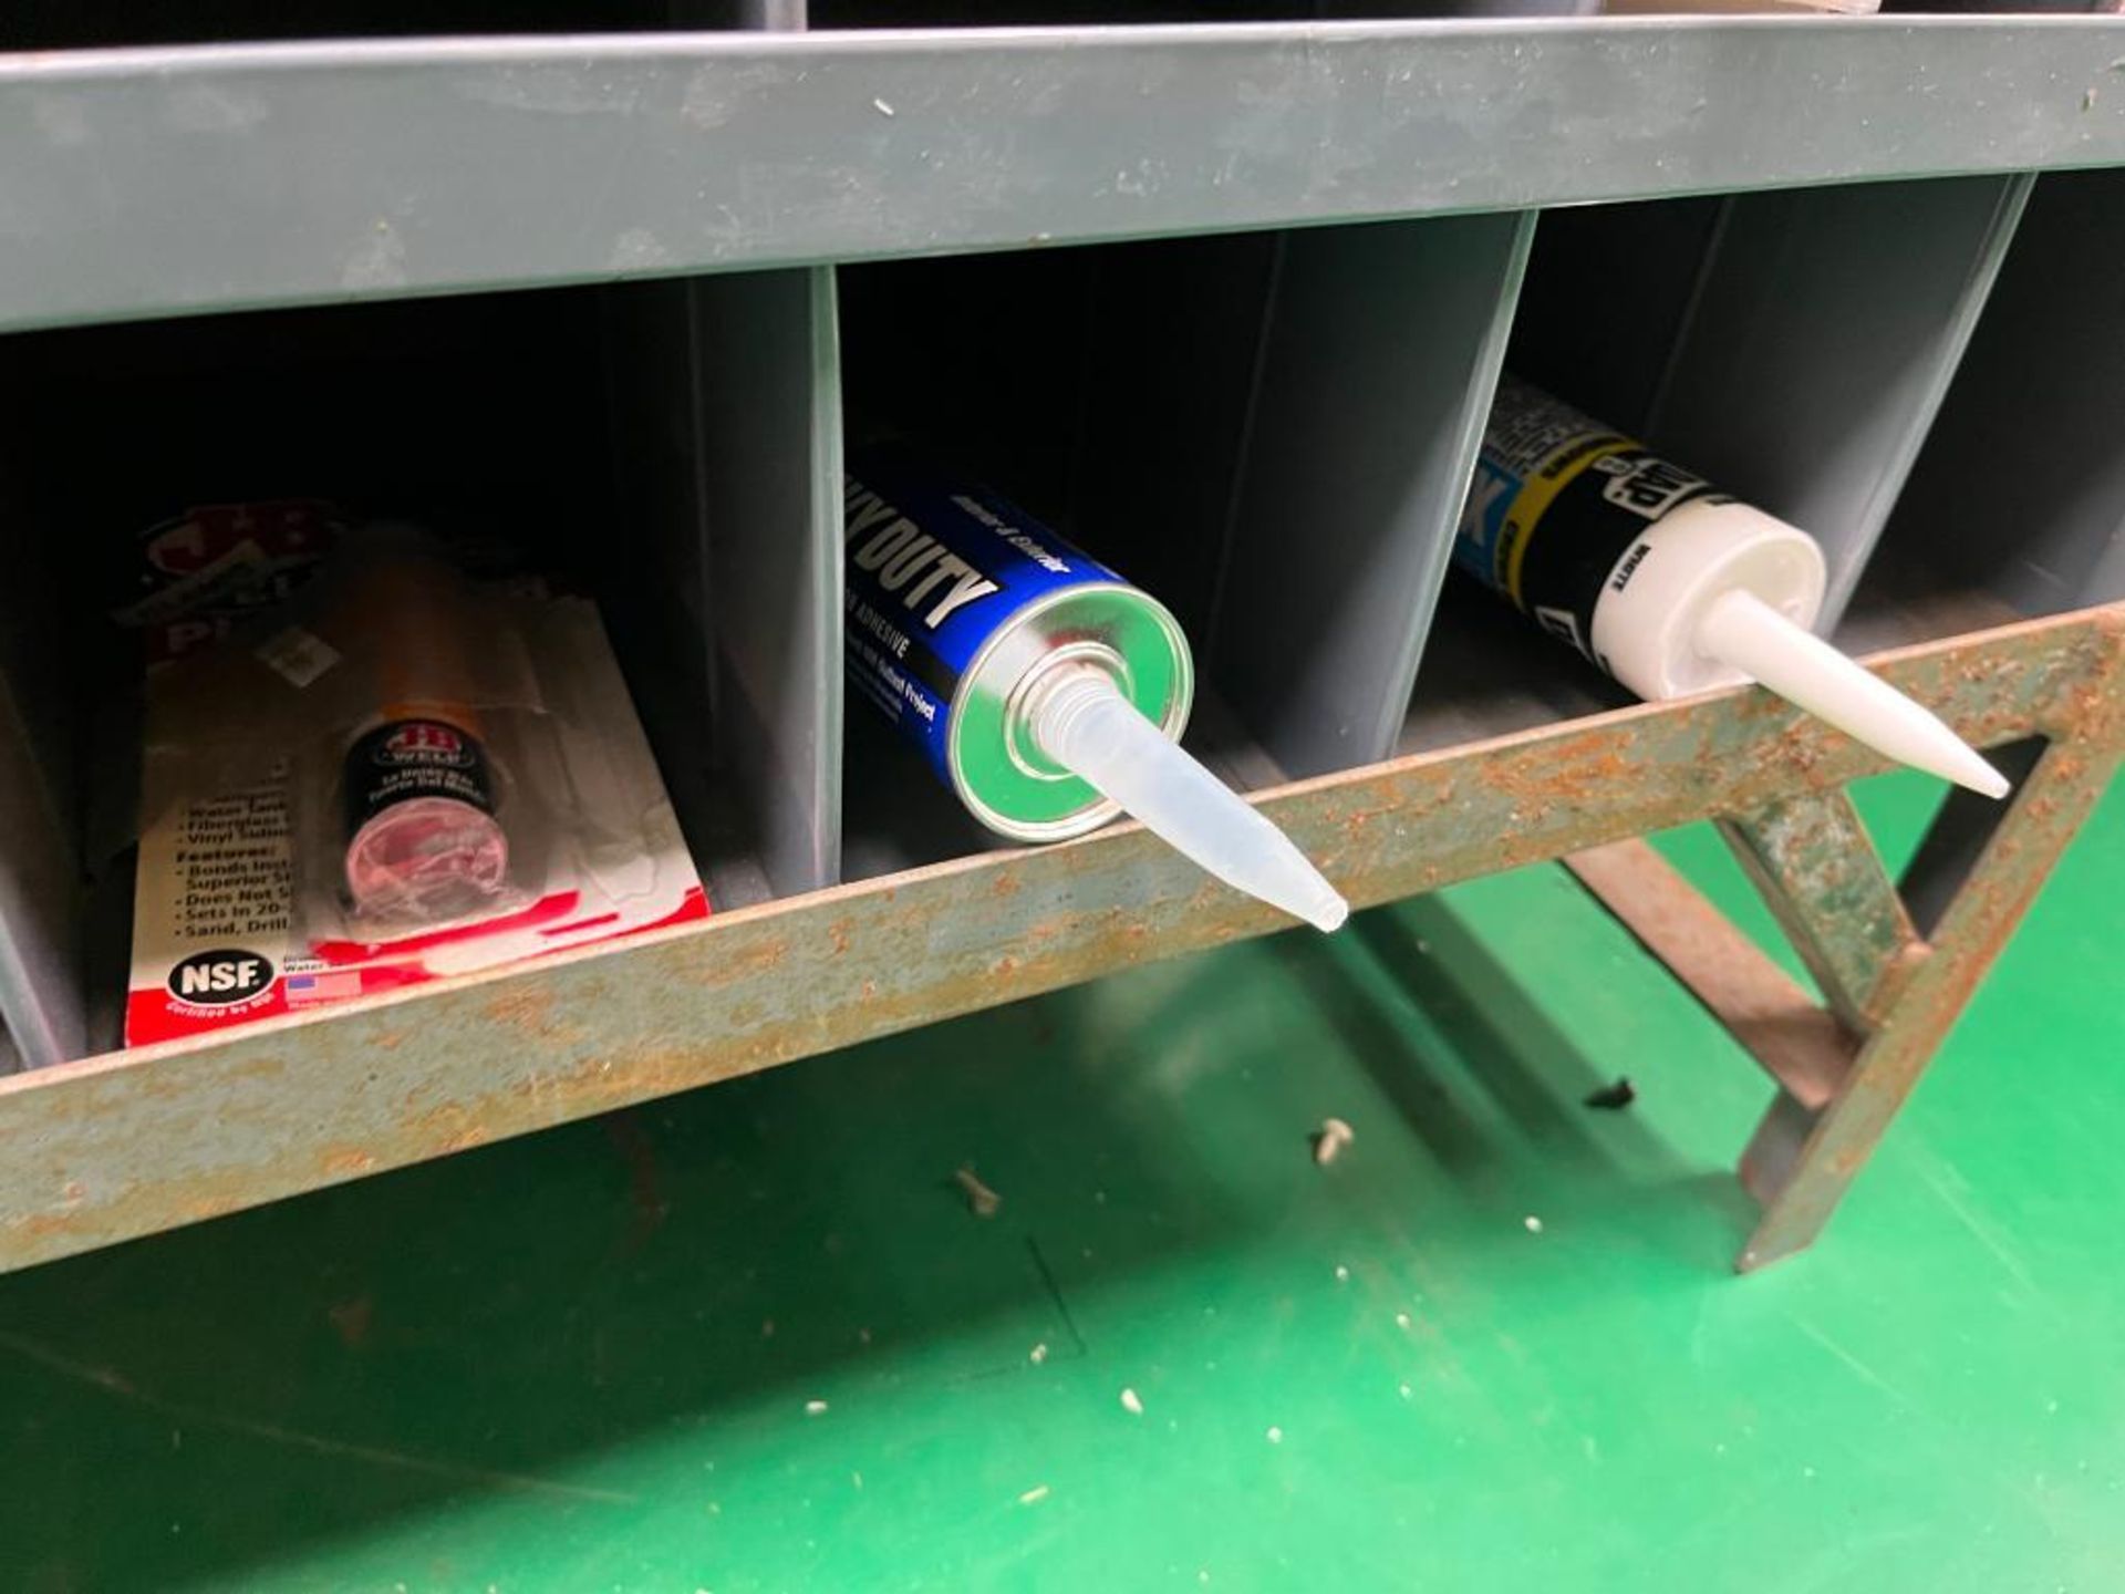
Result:
M212 648L149 642L128 1046L708 914L595 606L336 540Z

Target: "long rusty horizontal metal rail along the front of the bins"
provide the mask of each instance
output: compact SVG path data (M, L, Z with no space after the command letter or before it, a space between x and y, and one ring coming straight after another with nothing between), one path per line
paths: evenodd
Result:
M1885 655L1980 744L2063 723L2097 616ZM1356 903L1823 791L1878 761L1766 693L1640 706L1269 793ZM1281 929L1135 827L0 1082L21 1267Z

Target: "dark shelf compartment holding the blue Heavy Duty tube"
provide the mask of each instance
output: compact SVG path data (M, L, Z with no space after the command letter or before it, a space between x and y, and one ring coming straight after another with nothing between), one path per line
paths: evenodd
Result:
M844 268L852 436L910 436L1179 616L1239 788L1390 752L1532 217ZM999 846L850 725L848 878Z

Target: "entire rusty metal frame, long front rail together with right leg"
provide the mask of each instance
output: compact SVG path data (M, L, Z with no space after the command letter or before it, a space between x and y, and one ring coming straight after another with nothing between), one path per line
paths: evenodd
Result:
M1887 910L1883 884L1853 863L1840 829L1840 788L1881 763L1760 691L1649 703L1398 759L1284 786L1260 806L1358 905L1687 820L1732 820L1755 850L1760 878L1789 899L1787 922L1817 937L1810 963L1844 993L1840 1012L1868 1027L1853 1046L1840 1039L1842 1067L1825 1073L1821 1022L1802 1018L1815 1022L1815 1050L1802 1046L1802 1063L1781 1063L1762 1039L1781 1024L1781 993L1755 971L1757 1052L1770 1054L1766 1065L1781 1080L1781 1105L1745 1165L1768 1203L1742 1256L1755 1267L1804 1245L1828 1218L2125 744L2125 606L1904 648L1874 663L1980 746L2051 740L1930 944ZM1825 835L1840 840L1819 842ZM1628 878L1630 869L1611 874ZM1840 903L1864 912L1847 925ZM0 1267L444 1156L1286 922L1120 825L225 1039L15 1075L0 1080ZM1721 973L1677 963L1717 1007Z

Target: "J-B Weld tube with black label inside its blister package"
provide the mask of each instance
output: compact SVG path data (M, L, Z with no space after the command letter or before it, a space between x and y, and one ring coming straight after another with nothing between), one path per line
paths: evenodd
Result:
M508 876L493 763L455 629L463 578L419 533L374 527L338 612L376 659L376 712L346 748L346 893L357 912L444 922L487 910Z

